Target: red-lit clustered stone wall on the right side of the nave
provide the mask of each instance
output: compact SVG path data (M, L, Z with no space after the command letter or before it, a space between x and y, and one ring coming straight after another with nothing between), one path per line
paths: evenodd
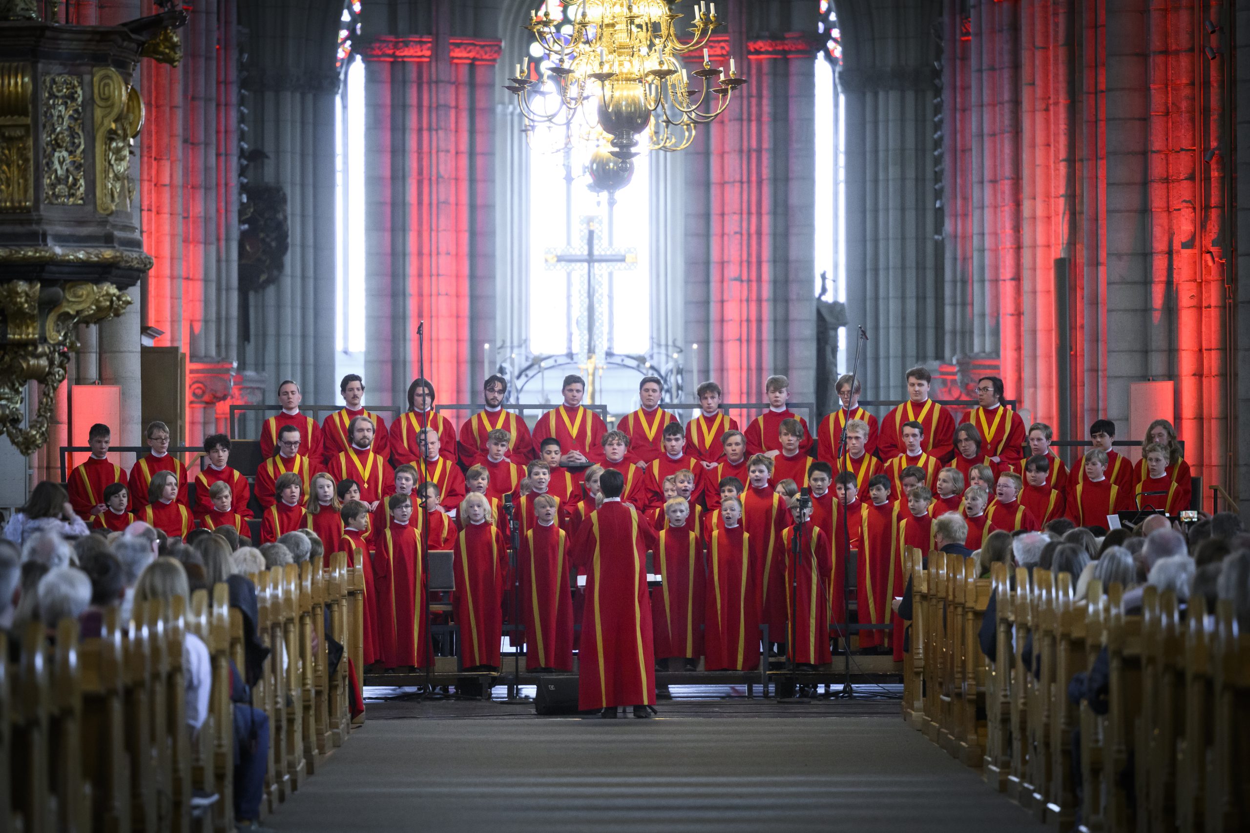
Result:
M1130 386L1174 380L1209 483L1235 446L1224 6L948 0L944 29L946 264L972 313L952 347L996 351L1008 395L1075 437L1109 416L1140 440Z

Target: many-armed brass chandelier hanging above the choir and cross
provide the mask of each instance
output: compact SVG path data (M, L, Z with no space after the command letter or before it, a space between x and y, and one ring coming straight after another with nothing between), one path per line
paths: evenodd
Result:
M599 126L611 137L619 160L638 156L639 136L650 131L654 150L681 150L695 127L715 120L729 106L734 90L746 84L734 59L714 69L708 41L718 26L716 4L700 2L682 42L675 24L678 0L571 0L568 22L544 10L525 29L534 32L549 60L516 66L505 87L516 95L528 122L565 126L594 102ZM688 72L681 55L702 49L700 69ZM695 92L690 75L701 80ZM584 116L590 122L590 116Z

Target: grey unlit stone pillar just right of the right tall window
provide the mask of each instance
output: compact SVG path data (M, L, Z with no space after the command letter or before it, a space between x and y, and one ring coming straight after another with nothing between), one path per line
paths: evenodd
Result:
M846 307L871 342L865 390L901 398L904 372L949 357L934 207L935 0L838 0L846 96Z

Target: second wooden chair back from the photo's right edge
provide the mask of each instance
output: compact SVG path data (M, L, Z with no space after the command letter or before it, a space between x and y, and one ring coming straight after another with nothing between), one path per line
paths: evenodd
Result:
M1198 833L1206 811L1206 759L1214 741L1216 708L1212 688L1215 622L1206 616L1206 599L1189 599L1185 617L1185 729L1176 744L1176 824L1181 833Z

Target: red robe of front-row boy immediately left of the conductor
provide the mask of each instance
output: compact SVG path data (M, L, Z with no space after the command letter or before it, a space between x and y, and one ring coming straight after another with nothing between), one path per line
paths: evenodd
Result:
M535 523L518 553L525 668L572 671L572 593L569 588L569 533Z

